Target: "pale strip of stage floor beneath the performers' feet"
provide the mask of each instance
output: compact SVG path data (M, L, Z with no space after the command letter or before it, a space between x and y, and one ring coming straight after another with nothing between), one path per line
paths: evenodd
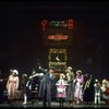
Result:
M23 105L23 101L15 101L13 106L9 104L1 104L0 108L43 108L43 102L27 102L26 105ZM51 102L51 108L59 108L59 102L52 101ZM70 107L69 104L64 102L63 108L109 108L109 105L100 104L100 105L94 105L94 104L82 104L82 105L74 105L73 107Z

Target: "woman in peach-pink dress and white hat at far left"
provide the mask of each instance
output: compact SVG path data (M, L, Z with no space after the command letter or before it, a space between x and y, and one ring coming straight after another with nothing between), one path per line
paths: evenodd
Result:
M13 70L11 75L8 78L7 82L7 89L8 89L8 99L11 101L11 105L13 104L15 90L19 89L19 72L16 70Z

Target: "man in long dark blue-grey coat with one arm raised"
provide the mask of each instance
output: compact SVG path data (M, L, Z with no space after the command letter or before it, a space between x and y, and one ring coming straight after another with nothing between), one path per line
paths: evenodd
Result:
M46 101L48 107L51 106L51 89L55 84L56 76L53 75L55 68L50 68L49 71L44 70L39 66L39 70L44 73L44 77L40 82L39 97L43 98L43 105L46 107Z

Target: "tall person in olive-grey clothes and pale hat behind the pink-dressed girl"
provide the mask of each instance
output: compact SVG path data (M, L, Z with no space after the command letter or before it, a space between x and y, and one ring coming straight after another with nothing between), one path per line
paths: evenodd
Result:
M70 106L73 106L73 101L74 101L74 78L75 75L72 72L72 68L68 66L66 69L66 81L68 81L68 87L66 87L66 100L70 102Z

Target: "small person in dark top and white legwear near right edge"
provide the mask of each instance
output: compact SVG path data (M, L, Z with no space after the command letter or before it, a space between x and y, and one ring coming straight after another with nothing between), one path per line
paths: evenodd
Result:
M100 83L98 80L95 80L95 84L94 84L94 87L95 87L95 104L100 104Z

